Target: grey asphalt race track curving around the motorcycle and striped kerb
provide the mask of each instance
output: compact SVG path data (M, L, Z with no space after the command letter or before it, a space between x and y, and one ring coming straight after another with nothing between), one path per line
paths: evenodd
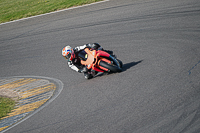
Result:
M86 80L61 55L100 43L123 72ZM0 77L64 88L6 133L199 133L200 1L110 0L0 25Z

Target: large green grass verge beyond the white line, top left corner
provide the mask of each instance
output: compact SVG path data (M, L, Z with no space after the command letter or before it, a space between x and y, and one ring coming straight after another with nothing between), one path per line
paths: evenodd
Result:
M0 0L0 23L101 0Z

